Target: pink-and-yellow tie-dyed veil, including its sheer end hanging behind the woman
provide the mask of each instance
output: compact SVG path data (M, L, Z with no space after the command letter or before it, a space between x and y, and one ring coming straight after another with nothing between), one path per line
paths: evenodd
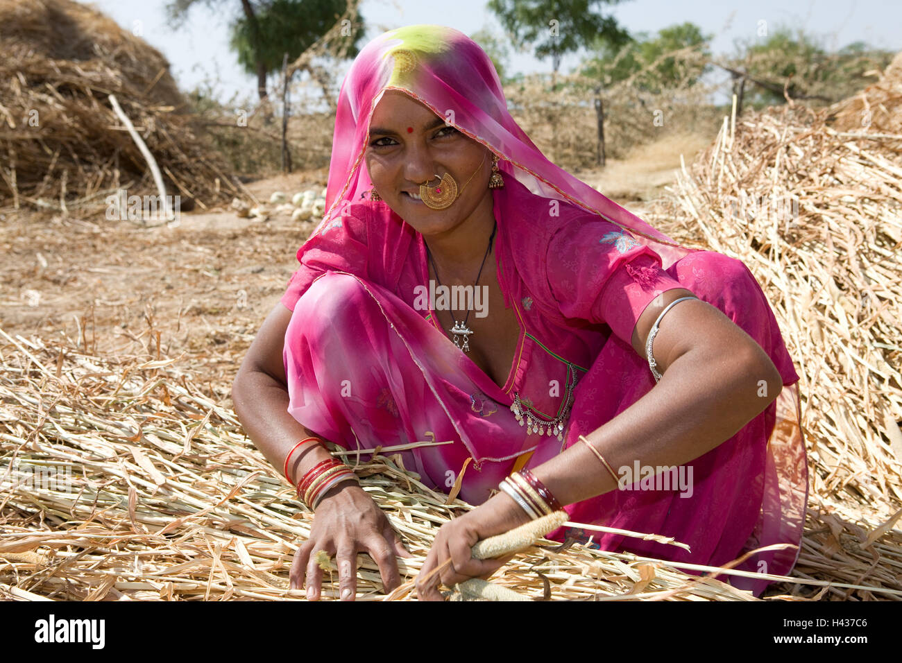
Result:
M373 187L364 166L369 124L382 93L389 89L410 95L444 117L447 124L485 145L499 156L498 165L505 177L516 178L532 193L567 201L626 229L640 244L658 253L664 269L691 253L691 249L548 161L508 112L492 60L465 34L440 25L411 25L385 32L370 41L354 60L338 98L326 213L311 237L340 224L346 206L368 198ZM786 382L793 376L788 365ZM759 528L761 522L770 523L771 528L778 523L779 531L768 530L767 526L764 531L758 529L754 535L758 541L797 540L800 536L805 495L796 493L798 486L806 484L801 477L806 468L800 420L796 384L787 385L778 397L775 432L770 437L769 461L764 469L767 487L762 513L769 513L769 517L759 521ZM792 468L788 474L787 467ZM782 519L775 516L787 503L793 505L793 512L785 513ZM793 566L796 556L797 550L784 550L770 558L779 562L773 566L785 570ZM769 571L760 567L754 570Z

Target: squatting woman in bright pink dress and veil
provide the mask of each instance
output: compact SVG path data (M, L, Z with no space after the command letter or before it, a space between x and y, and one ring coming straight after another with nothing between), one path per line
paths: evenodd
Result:
M731 582L755 594L768 585L756 573L795 564L807 497L798 375L758 283L548 161L462 33L401 28L354 60L327 213L298 259L234 400L315 511L290 573L309 598L320 549L336 556L345 600L357 552L386 592L400 584L395 556L409 555L324 440L451 441L402 453L424 483L480 505L439 529L420 598L490 575L502 562L471 559L473 543L559 505L571 521L691 548L550 535L641 556L720 566L791 544L737 566L750 577Z

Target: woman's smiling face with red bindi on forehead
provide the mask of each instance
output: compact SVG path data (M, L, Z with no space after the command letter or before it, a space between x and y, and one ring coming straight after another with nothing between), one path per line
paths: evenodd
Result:
M423 235L453 229L480 206L488 206L491 214L492 153L403 92L387 90L379 100L364 160L382 199ZM430 187L437 186L436 175L446 172L458 189L449 207L432 209L410 196L419 196L419 185L427 181Z

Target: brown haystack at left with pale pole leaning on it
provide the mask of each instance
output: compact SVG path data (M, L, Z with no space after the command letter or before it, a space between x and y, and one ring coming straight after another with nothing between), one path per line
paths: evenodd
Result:
M71 0L0 0L0 207L66 212L117 189L157 195L115 95L157 161L166 193L201 207L238 185L192 125L161 53Z

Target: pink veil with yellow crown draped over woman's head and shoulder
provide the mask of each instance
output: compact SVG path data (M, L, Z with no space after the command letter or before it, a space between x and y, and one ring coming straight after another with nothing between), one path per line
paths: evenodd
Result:
M628 230L661 256L666 269L689 253L660 231L558 167L538 150L507 109L492 60L463 32L410 25L370 41L338 96L326 214L313 235L372 189L364 150L373 109L385 90L404 92L500 158L498 166L545 198L569 201Z

